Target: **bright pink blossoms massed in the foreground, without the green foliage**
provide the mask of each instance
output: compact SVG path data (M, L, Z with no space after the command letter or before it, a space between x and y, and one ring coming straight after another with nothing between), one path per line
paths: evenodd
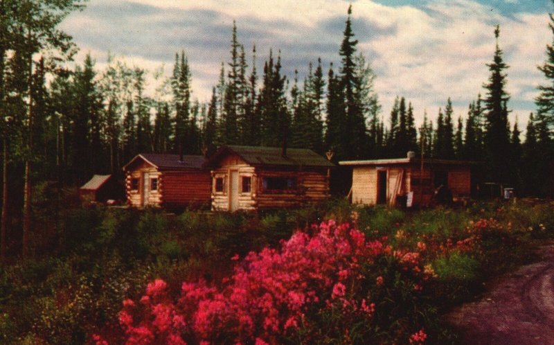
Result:
M375 303L369 300L364 272L380 256L397 260L421 282L430 275L418 252L393 252L348 223L330 220L312 226L312 233L298 231L279 249L251 252L242 260L233 257L237 264L231 277L220 285L184 282L177 301L164 281L148 284L138 302L123 301L119 320L126 343L261 345L300 334L309 340L326 311L338 311L345 324L354 319L370 324ZM378 276L373 286L383 283ZM420 332L412 336L418 344L427 337Z

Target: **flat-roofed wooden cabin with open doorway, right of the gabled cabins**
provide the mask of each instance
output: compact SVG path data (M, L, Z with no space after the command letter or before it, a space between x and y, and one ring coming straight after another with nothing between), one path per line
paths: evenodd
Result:
M464 200L472 191L472 163L445 159L340 161L352 168L352 203L431 206Z

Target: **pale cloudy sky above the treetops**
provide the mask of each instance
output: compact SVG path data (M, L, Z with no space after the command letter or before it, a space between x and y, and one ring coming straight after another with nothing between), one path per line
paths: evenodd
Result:
M98 69L108 51L153 71L165 64L170 75L184 50L193 73L193 96L208 100L221 62L229 61L231 28L247 51L256 44L258 73L269 49L280 51L284 72L302 79L310 61L321 57L325 73L338 54L350 1L339 0L89 0L62 28L91 53ZM395 96L413 103L421 119L435 118L452 98L456 116L481 92L486 64L494 53L494 26L509 64L510 118L525 125L535 110L536 87L544 82L537 65L545 59L551 0L359 0L352 1L358 50L372 64L375 89L388 113ZM250 57L249 57L250 60ZM520 127L521 128L521 127Z

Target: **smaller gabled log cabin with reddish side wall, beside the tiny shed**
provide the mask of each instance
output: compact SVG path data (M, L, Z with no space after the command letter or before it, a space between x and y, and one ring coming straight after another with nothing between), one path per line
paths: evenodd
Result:
M210 203L210 170L204 156L137 154L123 170L127 204L133 207L184 209Z

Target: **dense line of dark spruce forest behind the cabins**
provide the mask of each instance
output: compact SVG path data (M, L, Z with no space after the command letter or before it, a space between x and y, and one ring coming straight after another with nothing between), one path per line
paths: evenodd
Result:
M339 161L405 157L414 151L476 161L481 179L513 184L521 193L551 195L553 190L554 42L539 67L547 84L539 86L537 113L530 115L521 142L517 122L508 121L508 64L498 26L484 98L479 94L467 115L457 118L448 98L434 121L426 112L416 127L416 110L402 96L388 118L381 114L375 73L357 51L351 7L339 66L331 63L325 72L321 59L309 62L303 80L298 72L289 80L280 52L274 51L258 75L256 46L247 56L233 23L230 60L222 62L204 104L194 97L184 51L175 54L169 78L163 68L129 67L111 55L102 71L90 55L69 68L76 47L57 25L81 6L78 0L0 3L2 253L8 224L19 215L23 247L28 247L33 184L55 181L61 188L81 184L93 173L118 174L139 152L210 155L224 144L287 145L320 154L331 150ZM550 25L554 34L552 16ZM150 94L149 73L159 85Z

